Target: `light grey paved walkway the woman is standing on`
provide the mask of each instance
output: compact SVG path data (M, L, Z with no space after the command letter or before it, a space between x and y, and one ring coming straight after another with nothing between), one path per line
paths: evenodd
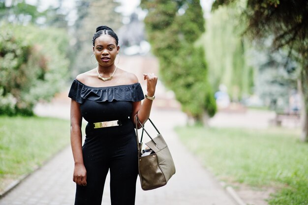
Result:
M54 108L41 105L36 112L42 116L69 117L68 106L59 104L57 110ZM236 205L219 182L179 142L173 127L185 124L185 115L177 110L154 109L151 118L168 143L177 171L166 186L151 191L143 191L138 178L136 205ZM73 159L67 147L4 196L0 205L72 205L75 193L72 172ZM110 205L108 177L105 184L102 205Z

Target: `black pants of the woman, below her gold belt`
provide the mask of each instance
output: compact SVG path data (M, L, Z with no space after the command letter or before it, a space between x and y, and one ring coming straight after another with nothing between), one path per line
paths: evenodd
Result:
M111 205L134 205L138 153L132 124L90 129L82 148L87 186L77 185L75 205L101 205L108 170Z

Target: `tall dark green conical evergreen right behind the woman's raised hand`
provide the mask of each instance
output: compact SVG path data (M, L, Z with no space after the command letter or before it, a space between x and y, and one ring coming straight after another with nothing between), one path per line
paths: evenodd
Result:
M141 6L148 10L146 30L165 85L189 116L199 121L205 111L214 116L216 103L204 50L196 45L205 31L200 1L141 0Z

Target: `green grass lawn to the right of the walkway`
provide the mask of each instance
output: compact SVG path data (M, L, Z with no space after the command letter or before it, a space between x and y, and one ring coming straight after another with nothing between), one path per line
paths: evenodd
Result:
M221 180L278 189L270 205L308 205L308 144L299 130L176 128L184 145Z

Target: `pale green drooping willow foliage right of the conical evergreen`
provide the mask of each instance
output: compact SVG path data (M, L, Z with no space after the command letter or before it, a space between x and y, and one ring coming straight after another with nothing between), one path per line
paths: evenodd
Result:
M250 94L253 86L253 70L246 60L250 45L242 36L240 12L238 7L218 8L207 19L201 42L205 45L211 85L215 90L225 85L235 101Z

